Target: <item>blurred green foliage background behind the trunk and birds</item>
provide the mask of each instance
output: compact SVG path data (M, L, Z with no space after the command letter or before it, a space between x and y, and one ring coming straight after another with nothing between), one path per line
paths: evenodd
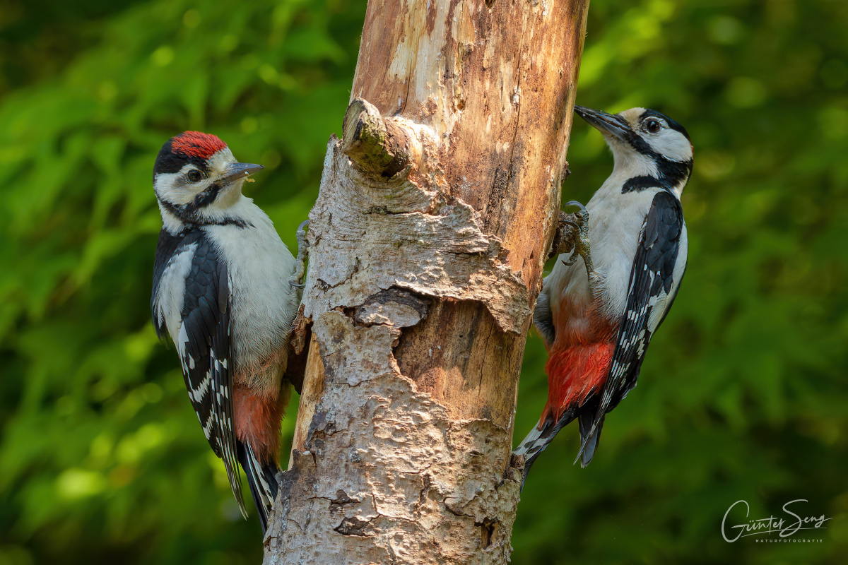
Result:
M500 1L500 0L498 0ZM283 241L314 201L365 0L0 0L0 565L254 563L172 350L148 319L161 144L213 132ZM695 141L689 270L589 468L567 429L513 562L848 562L848 3L594 0L578 101ZM566 200L611 169L579 120ZM516 435L547 391L525 356ZM290 440L292 419L286 421ZM816 544L728 544L804 498Z

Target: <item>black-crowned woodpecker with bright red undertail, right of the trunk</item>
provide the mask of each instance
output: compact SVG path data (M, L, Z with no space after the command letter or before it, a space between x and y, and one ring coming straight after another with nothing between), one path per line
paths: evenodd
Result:
M544 278L533 324L548 350L548 402L514 453L524 478L554 436L577 418L581 467L598 447L604 417L636 385L650 338L686 270L680 196L693 147L682 125L645 108L621 114L575 106L603 134L615 165L580 209L566 249ZM587 276L588 274L588 276ZM577 463L575 461L575 463Z

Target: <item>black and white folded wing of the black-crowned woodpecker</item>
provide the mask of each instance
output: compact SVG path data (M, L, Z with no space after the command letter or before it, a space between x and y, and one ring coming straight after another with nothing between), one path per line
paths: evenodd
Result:
M686 258L683 208L671 193L659 191L639 233L639 246L630 270L627 307L618 329L616 349L598 410L591 417L591 427L589 421L583 422L583 418L580 421L581 454L587 445L596 445L605 413L616 407L636 386L650 338L677 295ZM587 455L591 459L591 453ZM585 463L586 457L583 459Z

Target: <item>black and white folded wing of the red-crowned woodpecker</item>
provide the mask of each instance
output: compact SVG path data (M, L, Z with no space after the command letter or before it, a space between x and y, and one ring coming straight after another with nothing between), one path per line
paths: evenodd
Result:
M162 247L162 235L159 247ZM175 305L181 302L175 345L188 397L209 446L224 461L232 493L247 516L232 416L233 360L226 264L218 260L215 248L200 231L190 233L170 248L172 259L162 269L154 267L153 323L158 333L164 333L169 308L178 307ZM169 273L169 269L175 272ZM163 293L160 287L175 278L181 284L171 282L171 288ZM175 292L181 292L181 301L170 296Z

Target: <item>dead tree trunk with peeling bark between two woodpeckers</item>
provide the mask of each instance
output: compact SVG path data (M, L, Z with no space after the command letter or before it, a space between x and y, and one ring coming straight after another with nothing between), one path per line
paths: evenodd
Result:
M508 561L588 4L368 3L310 213L313 337L266 563Z

